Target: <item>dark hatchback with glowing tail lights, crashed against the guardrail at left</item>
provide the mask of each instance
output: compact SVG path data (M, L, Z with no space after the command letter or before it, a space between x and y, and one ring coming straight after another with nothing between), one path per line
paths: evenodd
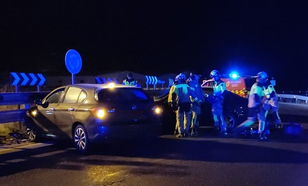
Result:
M76 84L55 89L27 111L33 141L42 136L73 139L79 151L96 139L154 137L161 109L141 89L125 85Z

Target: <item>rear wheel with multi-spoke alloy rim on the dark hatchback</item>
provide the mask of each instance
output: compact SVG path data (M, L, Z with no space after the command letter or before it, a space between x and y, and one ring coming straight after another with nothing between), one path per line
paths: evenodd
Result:
M74 131L75 147L79 152L86 152L89 148L89 138L86 129L82 125L78 125Z

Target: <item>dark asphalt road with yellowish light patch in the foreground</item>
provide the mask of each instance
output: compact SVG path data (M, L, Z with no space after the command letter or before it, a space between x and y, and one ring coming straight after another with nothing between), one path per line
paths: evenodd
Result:
M308 117L282 114L282 120L301 122L303 135L275 131L269 142L260 142L257 136L219 137L203 128L200 137L98 144L84 155L67 142L2 146L0 185L307 186Z

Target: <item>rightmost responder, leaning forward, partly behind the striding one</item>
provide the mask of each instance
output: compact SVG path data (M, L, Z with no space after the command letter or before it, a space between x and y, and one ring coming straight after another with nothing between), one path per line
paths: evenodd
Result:
M278 97L276 94L276 91L274 89L274 86L268 81L266 80L265 82L265 86L263 87L263 92L265 95L265 101L264 101L264 110L265 110L265 119L267 117L268 112L270 111L270 109L273 109L273 115L274 118L276 120L276 125L278 127L278 129L281 128L281 120L280 117L278 115Z

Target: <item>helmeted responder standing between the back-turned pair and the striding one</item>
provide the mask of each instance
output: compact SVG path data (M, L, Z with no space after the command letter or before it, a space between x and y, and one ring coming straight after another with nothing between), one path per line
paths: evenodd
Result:
M214 92L208 98L209 102L212 103L212 114L215 122L214 127L217 133L220 132L221 134L226 135L227 124L225 122L225 118L222 113L223 111L222 105L226 93L226 84L220 79L220 75L217 70L213 70L210 74L210 77L213 78L213 81L215 82L213 86ZM219 126L219 124L221 125Z

